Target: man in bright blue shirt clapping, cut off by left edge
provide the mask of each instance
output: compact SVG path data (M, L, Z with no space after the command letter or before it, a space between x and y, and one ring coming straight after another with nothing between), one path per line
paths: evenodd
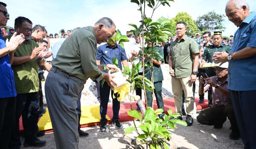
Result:
M6 4L0 2L0 26L10 19ZM15 49L24 41L23 34L14 33L10 41L3 39L0 30L0 149L8 149L11 131L15 123L16 89L12 62Z

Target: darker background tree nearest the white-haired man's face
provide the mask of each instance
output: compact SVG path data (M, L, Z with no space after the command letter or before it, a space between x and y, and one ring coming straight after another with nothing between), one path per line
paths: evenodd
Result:
M195 20L195 24L198 26L200 31L220 31L224 32L226 27L222 24L224 21L224 14L217 14L214 10L199 16Z

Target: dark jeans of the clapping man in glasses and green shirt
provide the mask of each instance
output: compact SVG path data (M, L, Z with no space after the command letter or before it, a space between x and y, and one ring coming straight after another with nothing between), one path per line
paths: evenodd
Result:
M22 124L24 129L25 143L38 140L38 118L39 118L39 93L32 92L26 94L17 94L16 96L16 115L15 126L12 130L9 149L19 149L20 143L20 116L22 115Z

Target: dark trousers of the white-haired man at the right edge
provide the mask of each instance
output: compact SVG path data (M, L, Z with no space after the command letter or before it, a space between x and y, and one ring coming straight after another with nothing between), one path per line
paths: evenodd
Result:
M239 132L244 143L244 149L256 149L256 116L254 108L256 90L233 91L230 90L234 112Z

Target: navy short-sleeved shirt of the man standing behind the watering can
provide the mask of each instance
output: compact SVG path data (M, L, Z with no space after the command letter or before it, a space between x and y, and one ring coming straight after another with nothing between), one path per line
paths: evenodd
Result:
M119 49L120 50L119 50ZM125 49L122 48L120 45L116 45L111 48L111 46L106 43L105 45L99 46L97 49L97 57L96 60L101 60L100 64L113 64L112 57L116 57L118 60L118 66L122 70L122 60L127 60L125 56ZM102 71L108 73L108 71Z

